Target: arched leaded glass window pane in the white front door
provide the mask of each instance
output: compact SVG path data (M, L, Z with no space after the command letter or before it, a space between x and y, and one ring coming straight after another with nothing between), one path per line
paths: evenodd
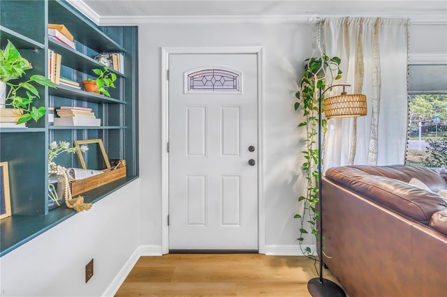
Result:
M240 92L240 74L224 69L198 70L188 75L188 91Z

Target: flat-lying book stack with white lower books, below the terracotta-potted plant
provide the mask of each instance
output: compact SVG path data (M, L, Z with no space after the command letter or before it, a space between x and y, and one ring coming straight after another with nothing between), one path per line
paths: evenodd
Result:
M54 118L54 125L99 126L101 119L96 119L89 107L61 106L56 109L58 118Z

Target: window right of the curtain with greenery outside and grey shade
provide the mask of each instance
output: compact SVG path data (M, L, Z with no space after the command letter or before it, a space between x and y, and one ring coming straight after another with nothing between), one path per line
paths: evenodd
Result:
M447 65L409 66L406 164L447 166Z

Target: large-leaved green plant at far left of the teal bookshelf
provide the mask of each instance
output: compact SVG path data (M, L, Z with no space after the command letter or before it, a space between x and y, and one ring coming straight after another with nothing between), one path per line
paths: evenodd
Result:
M31 63L24 59L13 43L8 40L4 50L0 50L0 108L11 106L17 109L20 118L19 123L25 123L31 119L38 121L45 115L45 107L31 107L34 98L41 98L33 83L54 88L50 79L43 75L32 75L25 82L13 83L15 79L20 79L25 70L32 69ZM6 93L6 89L9 91Z

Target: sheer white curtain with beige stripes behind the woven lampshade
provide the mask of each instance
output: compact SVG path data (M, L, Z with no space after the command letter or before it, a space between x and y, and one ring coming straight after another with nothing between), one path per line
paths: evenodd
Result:
M408 65L407 19L327 18L321 23L323 50L342 59L348 93L367 96L368 114L330 119L325 169L341 165L403 164L406 148ZM336 96L335 87L326 96Z

